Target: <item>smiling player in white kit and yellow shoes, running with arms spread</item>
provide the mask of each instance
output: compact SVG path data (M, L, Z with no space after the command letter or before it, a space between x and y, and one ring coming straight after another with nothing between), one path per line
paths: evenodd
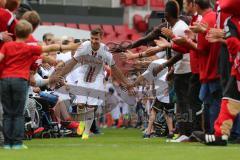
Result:
M85 117L85 129L79 126L78 134L82 134L82 139L88 139L89 130L93 122L93 110L97 107L98 101L104 92L104 65L111 67L112 76L119 80L128 90L132 90L130 82L115 65L113 55L108 51L108 47L101 43L103 32L97 28L91 31L90 41L85 41L77 49L73 58L61 70L61 76L65 76L72 71L75 65L80 63L78 69L77 86L84 88L81 95L77 95L76 103L84 106L87 116ZM102 91L102 92L99 92ZM80 125L83 123L80 123Z

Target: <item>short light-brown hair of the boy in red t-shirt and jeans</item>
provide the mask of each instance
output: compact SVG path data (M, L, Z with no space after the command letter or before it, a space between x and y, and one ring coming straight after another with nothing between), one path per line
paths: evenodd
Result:
M32 33L32 25L26 20L20 20L15 27L15 33L17 38L28 38Z

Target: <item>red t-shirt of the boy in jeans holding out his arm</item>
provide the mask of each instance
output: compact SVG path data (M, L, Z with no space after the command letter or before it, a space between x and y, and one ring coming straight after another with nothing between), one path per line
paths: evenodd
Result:
M2 68L0 78L24 78L29 79L30 66L42 53L41 46L33 46L24 42L6 42L1 51L4 58L1 61Z

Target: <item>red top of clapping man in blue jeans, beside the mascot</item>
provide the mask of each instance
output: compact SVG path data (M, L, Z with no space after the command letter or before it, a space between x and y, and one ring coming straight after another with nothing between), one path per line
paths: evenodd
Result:
M214 28L216 25L216 13L212 10L206 11L202 15L203 23L208 24L208 28ZM199 57L199 73L202 83L210 82L220 78L217 73L219 58L219 43L209 43L206 40L206 33L198 34L198 57Z

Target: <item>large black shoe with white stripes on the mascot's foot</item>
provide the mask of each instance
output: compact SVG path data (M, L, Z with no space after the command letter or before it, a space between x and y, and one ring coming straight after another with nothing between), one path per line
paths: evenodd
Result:
M194 131L192 136L196 138L200 143L209 145L209 146L226 146L227 145L227 137L217 137L211 134L205 134L202 131Z

